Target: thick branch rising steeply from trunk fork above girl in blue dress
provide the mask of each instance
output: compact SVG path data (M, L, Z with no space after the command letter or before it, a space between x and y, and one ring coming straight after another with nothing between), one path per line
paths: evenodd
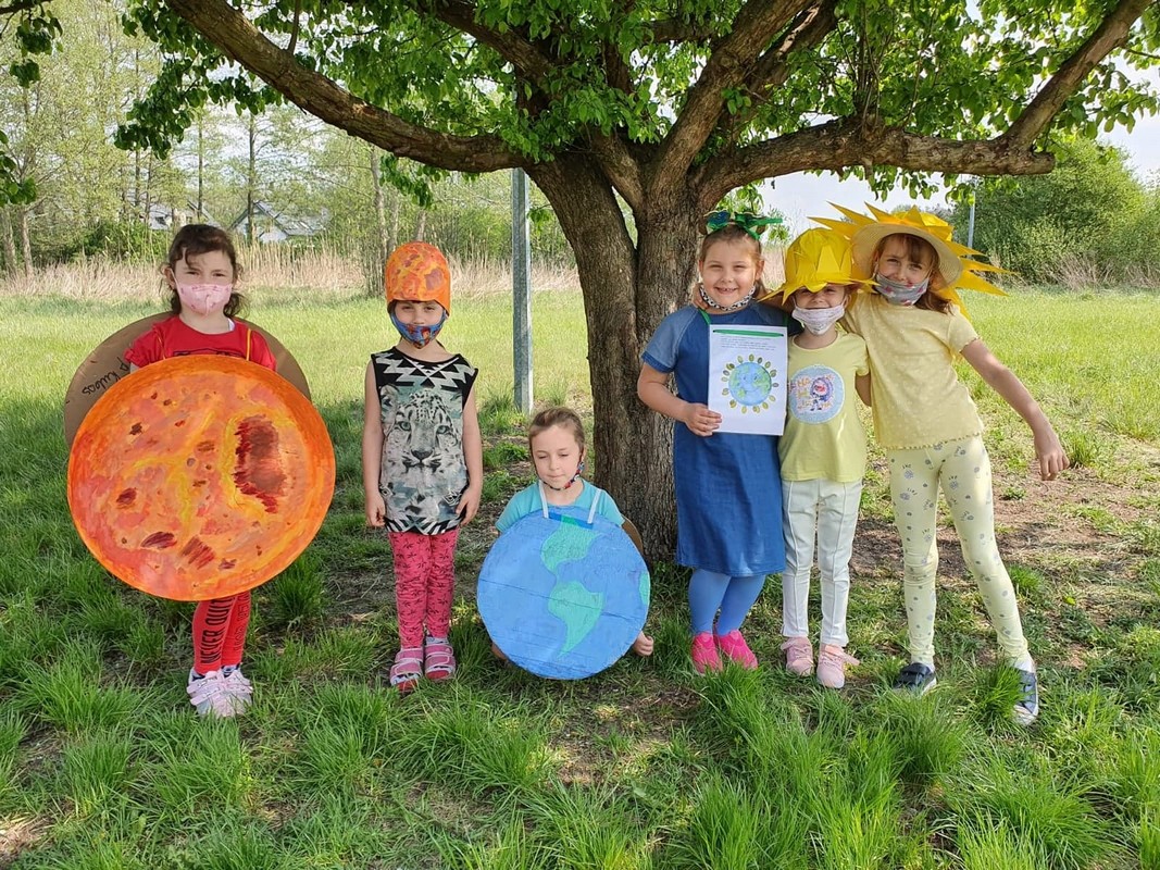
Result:
M811 0L748 0L741 7L733 30L712 48L697 84L661 144L650 187L664 189L683 183L694 158L717 126L725 90L745 80L754 58L768 46L793 16Z

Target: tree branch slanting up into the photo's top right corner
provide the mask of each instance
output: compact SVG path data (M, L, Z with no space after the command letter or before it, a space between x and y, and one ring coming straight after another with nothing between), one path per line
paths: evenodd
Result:
M1100 27L1087 41L1065 60L1047 84L1015 119L1003 139L1012 148L1028 148L1051 124L1064 103L1083 84L1096 65L1112 50L1128 39L1136 20L1155 0L1121 0L1116 8L1104 16Z

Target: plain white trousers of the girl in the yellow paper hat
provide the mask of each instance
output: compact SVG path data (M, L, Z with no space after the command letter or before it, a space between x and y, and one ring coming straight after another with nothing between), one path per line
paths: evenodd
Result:
M818 541L821 574L821 643L844 647L846 608L850 600L850 554L858 522L862 481L783 480L782 635L809 637L810 570Z

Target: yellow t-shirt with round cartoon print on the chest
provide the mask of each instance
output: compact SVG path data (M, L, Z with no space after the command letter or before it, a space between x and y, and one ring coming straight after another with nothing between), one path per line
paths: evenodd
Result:
M840 332L824 348L802 348L790 339L785 432L777 442L782 480L862 479L867 434L854 379L869 371L867 346L857 335Z

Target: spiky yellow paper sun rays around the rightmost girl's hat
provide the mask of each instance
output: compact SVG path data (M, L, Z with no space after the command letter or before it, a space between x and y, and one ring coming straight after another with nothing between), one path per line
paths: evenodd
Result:
M934 247L938 255L938 274L942 276L943 287L930 288L930 292L952 302L959 311L966 310L958 295L959 290L977 290L981 293L1007 296L1003 290L977 274L980 271L1007 273L1007 270L980 260L973 260L972 256L983 256L983 254L955 241L951 238L950 224L942 218L915 208L891 215L867 203L870 215L860 215L850 209L843 209L841 205L833 203L831 205L838 209L846 219L811 218L811 220L836 230L850 240L854 270L858 277L864 280L873 277L873 253L879 241L887 235L904 233L925 239Z

